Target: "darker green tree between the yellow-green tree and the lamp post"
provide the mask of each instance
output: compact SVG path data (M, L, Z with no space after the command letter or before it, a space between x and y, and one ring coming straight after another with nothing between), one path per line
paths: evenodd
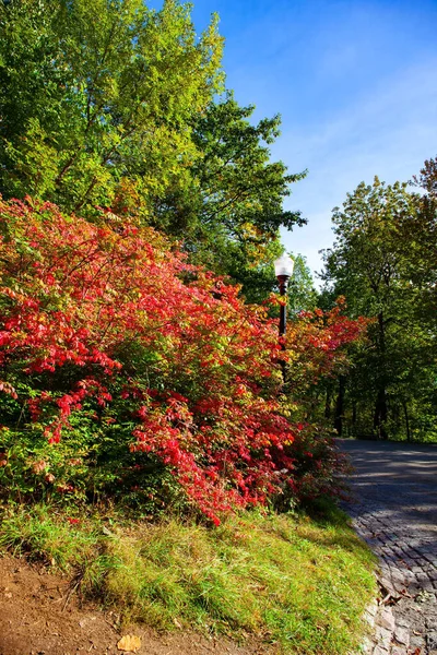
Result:
M192 186L157 199L157 225L182 237L191 260L244 285L260 301L274 286L273 260L282 246L281 226L303 225L299 212L283 209L290 175L271 162L269 145L280 135L280 117L252 124L253 106L240 107L232 93L209 105L192 123L201 156L191 167Z

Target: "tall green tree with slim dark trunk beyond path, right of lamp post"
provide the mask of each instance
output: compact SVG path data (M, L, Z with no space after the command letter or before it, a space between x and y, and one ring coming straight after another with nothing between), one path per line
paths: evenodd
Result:
M349 379L355 429L381 439L401 432L410 438L411 413L418 419L429 390L435 393L434 338L412 277L421 198L406 183L387 186L375 178L371 187L362 183L347 195L333 223L326 279L346 297L351 315L373 319L369 342L355 354ZM344 404L344 385L341 393Z

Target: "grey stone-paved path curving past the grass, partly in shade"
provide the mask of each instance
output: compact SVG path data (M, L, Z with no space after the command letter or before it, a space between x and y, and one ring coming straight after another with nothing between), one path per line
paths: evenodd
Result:
M373 655L437 655L437 445L340 439L344 508L380 562Z

